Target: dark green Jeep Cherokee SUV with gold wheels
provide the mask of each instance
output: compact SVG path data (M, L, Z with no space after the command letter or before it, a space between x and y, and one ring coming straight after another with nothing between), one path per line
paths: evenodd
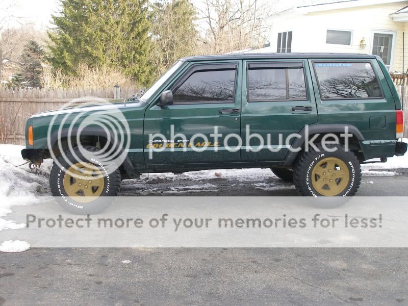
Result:
M234 54L177 61L140 98L30 117L22 157L52 157L68 210L140 173L271 168L301 195L354 195L360 164L401 156L401 102L379 57ZM105 198L106 199L106 198Z

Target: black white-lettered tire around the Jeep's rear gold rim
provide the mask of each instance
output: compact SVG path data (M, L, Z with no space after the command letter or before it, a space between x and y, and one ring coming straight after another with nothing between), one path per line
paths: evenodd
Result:
M328 157L338 158L343 161L349 170L348 185L338 196L353 196L357 192L361 183L361 166L359 160L352 151L346 151L341 144L327 144L327 148L337 147L334 152L324 150L321 144L317 145L318 151L311 149L302 152L297 158L294 166L293 183L300 195L321 196L313 187L311 176L314 166L322 159Z

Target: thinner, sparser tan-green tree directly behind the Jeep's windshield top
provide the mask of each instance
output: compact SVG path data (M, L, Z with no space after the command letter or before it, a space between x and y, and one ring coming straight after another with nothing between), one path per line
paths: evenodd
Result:
M177 59L194 54L197 11L189 0L159 0L153 7L153 59L161 74Z

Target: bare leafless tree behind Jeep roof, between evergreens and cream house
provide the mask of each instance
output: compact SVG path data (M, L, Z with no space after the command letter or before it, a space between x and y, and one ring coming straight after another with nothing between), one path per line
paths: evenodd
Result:
M265 18L277 0L204 0L201 18L207 24L201 53L223 54L258 48L268 40Z

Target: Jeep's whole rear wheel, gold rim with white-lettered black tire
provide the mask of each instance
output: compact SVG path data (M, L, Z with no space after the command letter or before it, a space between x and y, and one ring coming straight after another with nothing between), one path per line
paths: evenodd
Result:
M351 196L360 187L361 167L353 152L341 144L321 144L303 152L294 167L293 181L300 195Z

